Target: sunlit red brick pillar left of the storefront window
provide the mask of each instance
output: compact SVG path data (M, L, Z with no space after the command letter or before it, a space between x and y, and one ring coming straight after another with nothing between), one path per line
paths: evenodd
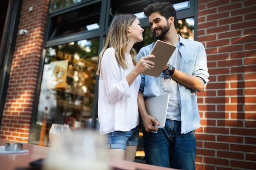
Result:
M38 75L49 0L24 0L20 29L12 61L0 138L28 142L32 105ZM29 7L33 11L29 12Z

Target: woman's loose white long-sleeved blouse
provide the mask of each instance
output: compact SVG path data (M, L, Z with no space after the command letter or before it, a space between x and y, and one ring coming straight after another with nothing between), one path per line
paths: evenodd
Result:
M115 57L115 49L108 48L101 61L99 77L99 132L129 131L139 124L138 92L140 75L129 87L126 76L134 68L131 54L125 54L128 69L123 69Z

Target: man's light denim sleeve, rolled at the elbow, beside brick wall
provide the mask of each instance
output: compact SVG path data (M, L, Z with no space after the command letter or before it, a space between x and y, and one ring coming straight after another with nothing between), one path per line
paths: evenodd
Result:
M207 83L209 82L209 73L207 68L207 56L204 45L202 43L200 43L200 46L198 48L198 55L196 57L195 67L192 75L201 79L205 89Z

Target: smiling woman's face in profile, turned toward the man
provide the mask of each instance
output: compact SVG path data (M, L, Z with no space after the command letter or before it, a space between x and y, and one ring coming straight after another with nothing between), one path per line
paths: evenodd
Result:
M143 31L144 29L140 27L140 21L138 20L138 18L136 18L131 26L129 26L128 28L131 41L134 41L135 43L143 41Z

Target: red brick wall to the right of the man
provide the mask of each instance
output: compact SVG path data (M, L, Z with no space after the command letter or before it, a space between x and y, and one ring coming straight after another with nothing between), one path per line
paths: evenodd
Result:
M256 0L198 0L210 82L198 93L198 170L256 169Z

